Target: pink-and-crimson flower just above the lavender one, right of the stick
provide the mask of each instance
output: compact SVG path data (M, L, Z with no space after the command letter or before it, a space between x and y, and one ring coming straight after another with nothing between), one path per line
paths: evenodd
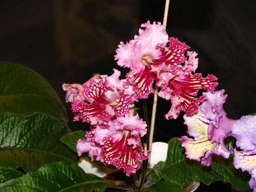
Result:
M196 98L199 90L206 90L213 92L218 85L217 77L208 75L206 78L202 77L201 73L192 74L198 66L198 59L196 52L189 52L188 61L185 65L178 65L176 73L162 73L161 79L167 79L168 84L162 84L162 90L158 96L171 100L172 106L170 111L165 115L166 119L174 118L184 111L186 115L192 115L198 110L198 104L206 99L205 95ZM165 80L166 81L166 80Z

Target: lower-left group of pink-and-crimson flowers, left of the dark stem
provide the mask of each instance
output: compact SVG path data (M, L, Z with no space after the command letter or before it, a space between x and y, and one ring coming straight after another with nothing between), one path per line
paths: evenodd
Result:
M113 164L130 175L139 169L138 160L148 158L151 151L140 146L147 124L133 115L135 89L119 76L114 69L111 76L94 75L82 85L63 84L63 89L76 113L74 121L82 119L91 125L86 139L77 141L78 155L89 152L92 161Z

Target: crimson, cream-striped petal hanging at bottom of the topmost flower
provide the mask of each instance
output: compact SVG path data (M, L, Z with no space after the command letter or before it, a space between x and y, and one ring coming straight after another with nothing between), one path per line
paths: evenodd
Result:
M156 75L151 73L151 68L148 66L138 72L131 70L126 74L126 78L128 82L132 81L132 83L134 83L134 87L138 90L137 95L140 99L146 99L148 98L148 94L154 93L152 84L153 80L156 79Z

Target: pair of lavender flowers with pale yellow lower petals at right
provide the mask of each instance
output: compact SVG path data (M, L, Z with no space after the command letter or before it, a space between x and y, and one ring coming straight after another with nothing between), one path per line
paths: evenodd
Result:
M212 164L212 154L228 158L234 154L233 163L236 169L248 171L252 178L250 186L256 186L256 116L242 116L239 120L231 120L223 110L227 95L224 90L214 93L203 93L207 98L198 107L197 113L192 116L184 115L188 134L194 139L182 136L181 146L189 159L201 161L202 164ZM230 146L225 147L224 140L228 136L236 138L237 150ZM202 158L201 158L202 157Z

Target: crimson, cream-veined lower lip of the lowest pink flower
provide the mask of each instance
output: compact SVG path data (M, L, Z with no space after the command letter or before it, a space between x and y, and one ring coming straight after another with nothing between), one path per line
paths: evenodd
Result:
M100 153L106 164L113 164L118 169L123 168L127 175L134 174L140 168L138 159L146 159L149 155L149 152L145 153L140 145L136 145L135 148L132 148L133 145L128 145L127 140L132 137L131 132L126 130L120 140L114 141L110 136Z

